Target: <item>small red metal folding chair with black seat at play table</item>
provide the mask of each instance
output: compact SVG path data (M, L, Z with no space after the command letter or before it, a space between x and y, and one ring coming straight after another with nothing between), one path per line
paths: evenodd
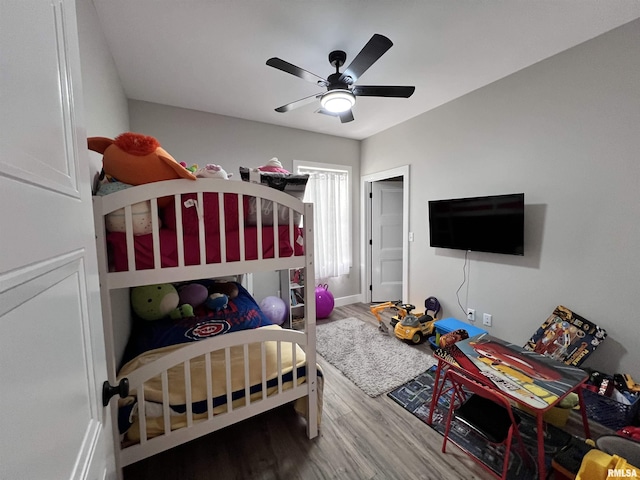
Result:
M473 456L472 458L487 471L498 476L498 478L506 479L507 470L509 469L511 440L514 435L518 438L522 454L525 457L528 456L524 442L520 436L520 431L518 430L520 417L513 412L509 400L494 388L483 385L453 369L447 370L443 379L441 392L444 391L447 381L451 382L449 389L452 390L452 395L444 431L444 441L442 442L442 453L446 453L447 440L464 451L462 445L457 444L455 440L449 438L451 420L455 416L458 421L463 422L478 432L489 443L505 445L502 476L496 475L491 468L487 467L477 458Z

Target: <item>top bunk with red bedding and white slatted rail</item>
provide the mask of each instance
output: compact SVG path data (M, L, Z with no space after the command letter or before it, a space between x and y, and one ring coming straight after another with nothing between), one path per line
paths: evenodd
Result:
M94 197L109 272L303 259L305 208L273 188L219 179L168 180Z

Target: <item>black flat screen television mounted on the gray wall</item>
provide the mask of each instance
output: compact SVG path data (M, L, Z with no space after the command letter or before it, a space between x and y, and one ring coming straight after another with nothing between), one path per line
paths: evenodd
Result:
M524 255L524 193L429 202L432 247Z

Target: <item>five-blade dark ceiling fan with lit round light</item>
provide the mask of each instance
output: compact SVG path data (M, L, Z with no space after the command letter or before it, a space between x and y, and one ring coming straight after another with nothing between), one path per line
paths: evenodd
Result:
M347 59L347 54L342 50L334 50L329 54L329 63L336 69L335 73L326 79L303 70L289 62L273 57L267 60L267 65L283 72L290 73L303 80L314 83L320 87L326 87L324 93L316 93L295 102L276 108L276 112L284 113L300 107L315 99L320 99L318 113L340 117L342 123L353 121L351 107L356 103L356 97L396 97L409 98L415 91L415 87L390 86L390 85L355 85L358 78L367 71L384 53L391 48L393 43L384 35L374 34L367 44L356 55L351 64L340 73Z

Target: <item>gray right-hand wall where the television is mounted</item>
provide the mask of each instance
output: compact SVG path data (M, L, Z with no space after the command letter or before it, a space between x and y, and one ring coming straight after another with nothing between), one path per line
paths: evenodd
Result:
M609 333L587 366L640 371L639 45L640 20L363 141L363 175L410 164L407 301L464 318L465 253L429 246L429 200L525 192L525 256L470 253L462 306L524 344L564 305Z

